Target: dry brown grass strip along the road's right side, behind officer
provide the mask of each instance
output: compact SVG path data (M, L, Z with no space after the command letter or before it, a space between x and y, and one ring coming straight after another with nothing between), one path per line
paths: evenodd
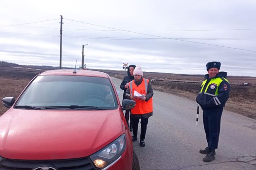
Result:
M199 84L184 84L172 82L151 82L155 90L172 93L187 99L196 99ZM256 87L232 86L226 110L256 119Z

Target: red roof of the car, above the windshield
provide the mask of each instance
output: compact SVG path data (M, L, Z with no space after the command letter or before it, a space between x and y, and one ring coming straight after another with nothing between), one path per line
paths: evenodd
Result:
M107 73L103 73L100 71L92 71L92 70L75 70L74 71L74 69L56 69L56 70L45 71L39 74L39 76L45 76L45 75L94 76L94 77L109 78Z

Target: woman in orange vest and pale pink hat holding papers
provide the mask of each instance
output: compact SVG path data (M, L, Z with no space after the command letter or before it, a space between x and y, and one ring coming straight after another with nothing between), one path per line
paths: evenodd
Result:
M133 71L134 80L129 82L126 90L126 98L136 101L136 105L131 109L131 120L133 127L132 142L137 141L138 123L140 120L140 143L145 146L146 126L148 118L153 115L153 89L148 79L143 78L141 66L136 66Z

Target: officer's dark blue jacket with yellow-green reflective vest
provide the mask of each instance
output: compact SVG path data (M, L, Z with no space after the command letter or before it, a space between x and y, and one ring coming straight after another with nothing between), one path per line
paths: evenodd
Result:
M230 85L226 78L226 72L219 72L213 78L209 78L209 74L205 75L201 91L196 97L196 102L200 104L202 109L225 106L230 91Z

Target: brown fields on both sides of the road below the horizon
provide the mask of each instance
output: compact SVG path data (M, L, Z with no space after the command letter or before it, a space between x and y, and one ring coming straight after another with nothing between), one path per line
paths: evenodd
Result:
M24 70L22 68L0 67L0 98L7 96L18 97L31 79L43 70ZM124 71L99 70L108 73L110 76L117 76L120 79L124 76ZM154 90L172 93L184 98L195 100L200 88L200 83L204 75L182 75L170 73L144 72L144 76L151 80ZM229 76L231 84L230 98L226 103L226 110L234 111L252 119L256 119L256 87L235 86L232 83L256 84L256 77ZM169 80L169 81L154 81ZM173 81L172 81L173 80ZM198 83L181 83L175 80ZM0 104L0 115L7 108Z

